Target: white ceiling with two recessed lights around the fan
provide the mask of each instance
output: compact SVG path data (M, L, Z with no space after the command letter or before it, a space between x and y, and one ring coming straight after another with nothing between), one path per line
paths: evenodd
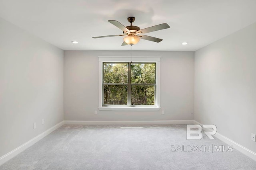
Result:
M141 40L133 50L196 51L256 22L256 0L0 0L0 17L63 50L129 50L108 22L141 29L168 23L147 33L160 43ZM73 44L71 41L78 41ZM182 42L188 45L181 45Z

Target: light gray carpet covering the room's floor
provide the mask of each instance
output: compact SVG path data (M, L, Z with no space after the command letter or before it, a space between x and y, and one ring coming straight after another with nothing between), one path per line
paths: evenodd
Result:
M161 125L164 126L164 125ZM244 154L178 145L228 145L186 140L186 125L63 125L0 166L1 170L255 170ZM143 128L120 128L143 127ZM176 152L174 152L176 151ZM212 152L211 152L212 151Z

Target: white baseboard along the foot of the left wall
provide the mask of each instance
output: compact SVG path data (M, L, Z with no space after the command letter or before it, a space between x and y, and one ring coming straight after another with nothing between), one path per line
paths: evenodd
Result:
M38 141L40 141L41 139L43 139L44 137L46 137L47 135L49 135L50 133L52 133L53 131L58 129L59 127L61 127L62 125L64 125L64 121L58 123L57 125L51 127L50 129L48 129L46 131L44 131L40 135L37 135L33 139L30 139L28 142L24 143L23 145L20 145L18 148L10 151L9 153L5 154L4 156L1 156L0 157L0 165L2 165L4 162L10 160L11 158L16 156L20 152L24 151L28 147L31 147L32 145L34 145L35 143L37 143Z

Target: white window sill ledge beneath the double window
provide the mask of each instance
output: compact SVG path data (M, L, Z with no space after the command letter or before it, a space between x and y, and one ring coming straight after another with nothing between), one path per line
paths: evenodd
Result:
M99 107L106 111L159 111L160 107Z

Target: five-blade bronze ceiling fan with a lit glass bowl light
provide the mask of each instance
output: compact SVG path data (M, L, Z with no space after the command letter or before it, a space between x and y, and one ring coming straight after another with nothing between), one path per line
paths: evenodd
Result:
M158 31L161 29L170 28L170 26L167 23L162 23L159 25L154 25L152 27L140 29L140 27L132 25L132 23L135 21L135 17L128 17L127 20L128 20L128 22L130 22L131 25L126 26L126 27L118 21L108 20L110 23L112 23L113 25L115 25L116 27L118 27L119 29L121 29L123 31L122 35L106 35L106 36L92 37L92 38L122 36L122 37L124 37L124 42L122 43L122 46L128 45L128 44L129 45L137 44L140 41L140 39L145 39L148 41L154 41L156 43L159 43L160 41L162 41L162 39L156 38L156 37L150 37L148 35L142 35L142 34L153 32L153 31Z

